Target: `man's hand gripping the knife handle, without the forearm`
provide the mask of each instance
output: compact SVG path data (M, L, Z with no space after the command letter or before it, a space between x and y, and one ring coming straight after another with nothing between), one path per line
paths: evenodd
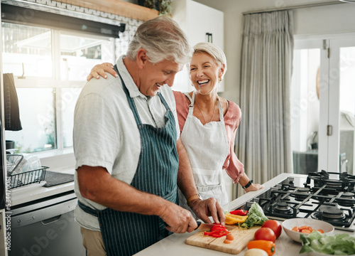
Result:
M190 233L197 228L196 220L190 211L175 203L169 202L159 216L166 223L165 228L173 233Z

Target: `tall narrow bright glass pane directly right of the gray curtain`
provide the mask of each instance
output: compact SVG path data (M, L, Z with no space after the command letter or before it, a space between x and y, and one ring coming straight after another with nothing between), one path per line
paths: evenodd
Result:
M297 46L297 42L295 43ZM320 48L295 48L291 85L293 171L308 174L318 170Z

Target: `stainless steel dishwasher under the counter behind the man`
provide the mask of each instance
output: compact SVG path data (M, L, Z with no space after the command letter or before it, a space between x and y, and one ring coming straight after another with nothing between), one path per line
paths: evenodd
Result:
M11 208L9 256L84 256L75 223L77 198L67 191Z

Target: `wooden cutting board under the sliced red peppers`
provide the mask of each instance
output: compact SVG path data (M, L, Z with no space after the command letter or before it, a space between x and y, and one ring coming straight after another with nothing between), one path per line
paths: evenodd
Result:
M259 228L261 228L261 226L253 226L246 230L239 227L229 230L234 236L234 240L232 240L230 244L224 243L224 240L226 240L225 236L222 238L213 238L209 235L204 235L203 231L191 235L186 239L186 243L187 245L195 245L236 255L244 250L246 245L248 245L248 242L254 239L254 234Z

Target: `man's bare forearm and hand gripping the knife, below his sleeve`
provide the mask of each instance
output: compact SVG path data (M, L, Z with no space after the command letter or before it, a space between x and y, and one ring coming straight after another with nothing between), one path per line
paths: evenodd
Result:
M84 198L114 210L158 215L174 233L192 232L197 223L190 211L160 196L138 191L111 177L102 167L81 166L77 169L80 193Z

